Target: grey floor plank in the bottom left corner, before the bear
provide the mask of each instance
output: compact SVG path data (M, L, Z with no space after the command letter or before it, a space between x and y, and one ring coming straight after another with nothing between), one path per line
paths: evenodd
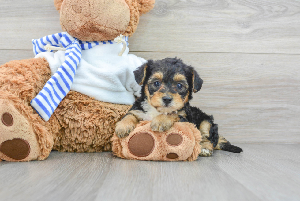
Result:
M6 172L0 196L4 200L74 200L69 199L74 194L75 200L83 200L82 195L95 184L102 186L112 160L111 153L52 152L44 161L0 162L1 172Z

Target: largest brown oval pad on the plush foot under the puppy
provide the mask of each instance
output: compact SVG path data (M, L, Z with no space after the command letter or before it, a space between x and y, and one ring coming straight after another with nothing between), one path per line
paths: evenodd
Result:
M133 155L145 157L152 153L154 144L154 139L149 133L136 133L129 139L128 148Z

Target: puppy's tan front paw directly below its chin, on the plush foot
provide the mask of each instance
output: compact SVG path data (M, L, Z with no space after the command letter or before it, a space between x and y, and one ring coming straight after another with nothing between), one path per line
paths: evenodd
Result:
M174 120L167 115L159 115L153 118L150 124L152 131L163 132L169 130L174 125Z

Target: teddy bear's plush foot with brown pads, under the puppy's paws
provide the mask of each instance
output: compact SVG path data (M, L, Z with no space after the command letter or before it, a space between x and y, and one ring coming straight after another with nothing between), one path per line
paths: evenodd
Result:
M154 132L142 121L125 138L113 136L113 152L131 160L193 161L201 151L200 131L188 122L176 122L165 132Z

